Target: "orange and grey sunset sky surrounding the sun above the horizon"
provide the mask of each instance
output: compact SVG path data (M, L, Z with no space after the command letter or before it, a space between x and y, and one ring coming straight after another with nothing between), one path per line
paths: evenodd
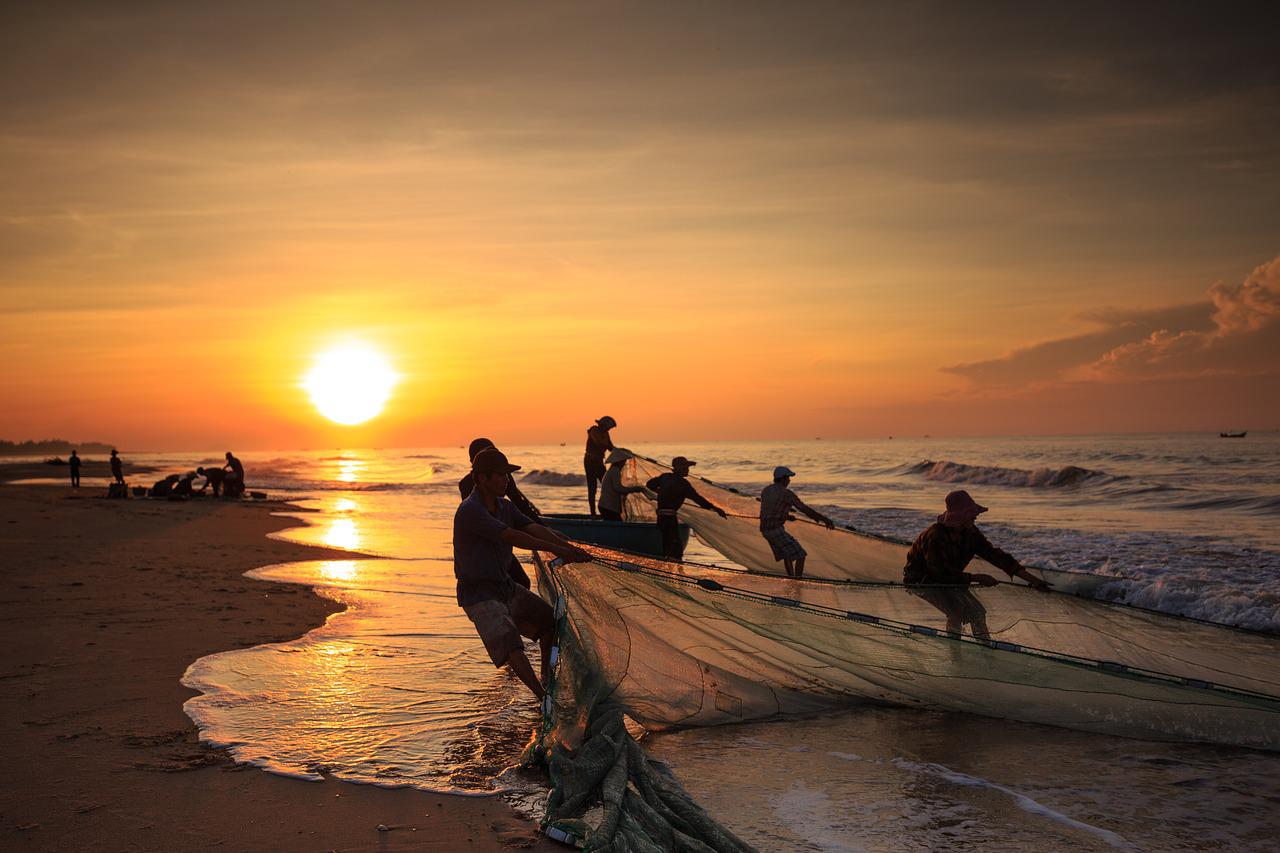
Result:
M1280 426L1266 4L0 18L0 438Z

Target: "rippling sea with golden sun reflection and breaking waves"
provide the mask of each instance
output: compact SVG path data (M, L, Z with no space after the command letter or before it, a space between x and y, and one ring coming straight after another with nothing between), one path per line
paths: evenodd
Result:
M989 507L988 538L1027 565L1108 575L1108 594L1129 603L1280 633L1280 432L675 443L618 429L614 441L687 456L744 492L787 465L810 505L900 539L964 488ZM581 442L503 450L541 510L586 510ZM178 473L220 456L128 459ZM280 506L303 525L279 538L369 556L251 573L344 610L294 640L193 661L184 683L201 695L187 712L202 736L275 774L500 795L536 817L545 780L513 767L535 702L489 663L453 597L466 451L238 456L251 489L298 507ZM723 562L696 538L687 557ZM1280 838L1280 756L1248 749L869 704L641 743L767 850L1261 850Z

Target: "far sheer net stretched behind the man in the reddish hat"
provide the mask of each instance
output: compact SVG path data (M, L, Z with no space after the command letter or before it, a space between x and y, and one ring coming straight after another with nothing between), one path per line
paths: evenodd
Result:
M655 460L641 456L632 457L623 469L623 483L644 485L652 478L671 469ZM694 488L704 498L726 511L728 517L710 510L704 510L691 501L680 508L680 520L698 534L698 538L716 548L733 562L753 571L782 575L782 564L773 558L769 543L760 535L760 502L755 496L748 496L710 480L690 476ZM626 519L634 521L654 519L653 503L643 494L628 494ZM906 564L909 543L884 537L872 535L850 526L827 529L805 517L797 517L787 524L787 533L794 535L809 552L805 560L805 576L829 580L869 580L878 583L901 583L902 566ZM974 571L1004 573L995 570L980 558L974 560ZM1076 571L1037 569L1059 592L1080 596L1093 596L1115 578L1091 575ZM1024 583L1016 580L1015 583Z

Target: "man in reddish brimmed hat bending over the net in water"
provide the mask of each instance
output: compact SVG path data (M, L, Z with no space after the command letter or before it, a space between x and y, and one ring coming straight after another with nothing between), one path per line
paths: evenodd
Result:
M991 639L987 608L968 587L995 587L1000 581L991 575L965 571L970 560L982 557L1010 578L1021 578L1034 589L1047 590L1052 584L1027 571L1012 556L987 542L974 524L987 507L969 497L968 492L951 492L946 506L947 511L918 535L906 552L902 583L946 615L947 633L960 634L963 626L969 625L978 639Z

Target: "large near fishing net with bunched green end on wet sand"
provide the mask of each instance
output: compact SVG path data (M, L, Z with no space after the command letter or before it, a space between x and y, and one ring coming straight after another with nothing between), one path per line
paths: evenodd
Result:
M559 646L541 748L548 833L588 849L741 849L622 725L721 725L863 702L1280 751L1280 638L1001 584L991 631L954 587L791 580L603 548L539 562ZM589 811L594 803L595 816Z

